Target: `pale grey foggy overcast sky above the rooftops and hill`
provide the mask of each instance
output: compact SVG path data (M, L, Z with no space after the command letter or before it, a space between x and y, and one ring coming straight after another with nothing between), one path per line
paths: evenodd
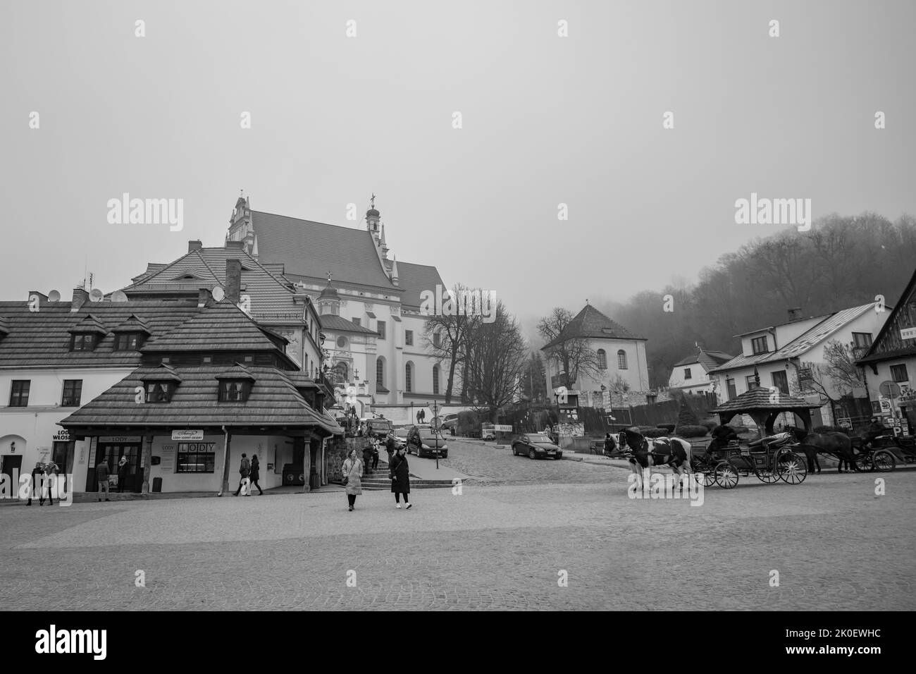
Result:
M398 260L526 322L692 281L780 228L736 225L752 192L916 213L914 30L908 1L4 0L0 298L221 246L240 189L350 227L375 192ZM109 224L122 193L183 230Z

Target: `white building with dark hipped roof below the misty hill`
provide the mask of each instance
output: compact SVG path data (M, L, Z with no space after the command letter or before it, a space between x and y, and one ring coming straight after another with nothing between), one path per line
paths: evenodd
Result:
M621 404L653 402L649 391L646 338L630 333L626 327L602 314L591 304L573 317L560 335L540 348L548 389L556 392L564 385L563 363L557 348L563 342L583 338L597 355L596 373L579 373L568 390L578 396L583 407L611 407Z

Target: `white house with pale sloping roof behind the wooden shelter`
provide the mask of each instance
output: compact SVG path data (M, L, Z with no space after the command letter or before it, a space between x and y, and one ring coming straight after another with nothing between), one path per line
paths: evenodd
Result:
M834 409L826 397L812 392L806 381L822 381L831 397L840 393L834 381L823 375L824 348L833 340L867 348L887 321L889 313L877 313L875 304L862 304L842 311L803 318L801 310L790 310L790 320L778 326L752 330L741 338L742 353L710 370L718 380L723 402L756 387L769 388L782 395L803 395L820 406L812 414L813 424L835 425ZM865 391L858 392L865 397ZM791 423L784 419L783 423Z

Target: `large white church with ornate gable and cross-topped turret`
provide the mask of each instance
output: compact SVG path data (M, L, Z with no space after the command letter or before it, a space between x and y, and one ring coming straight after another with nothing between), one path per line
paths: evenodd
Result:
M442 402L448 364L424 347L420 306L446 286L435 267L389 258L375 205L365 228L354 228L254 211L240 197L226 237L234 245L268 269L282 268L320 307L339 402L351 386L361 407L389 418L411 404L419 410Z

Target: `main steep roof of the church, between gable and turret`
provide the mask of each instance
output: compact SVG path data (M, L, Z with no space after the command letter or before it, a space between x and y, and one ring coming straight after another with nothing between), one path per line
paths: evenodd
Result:
M399 293L382 269L376 243L365 229L297 217L251 212L258 260L285 263L286 273L315 280L356 283ZM400 263L398 262L398 266Z

